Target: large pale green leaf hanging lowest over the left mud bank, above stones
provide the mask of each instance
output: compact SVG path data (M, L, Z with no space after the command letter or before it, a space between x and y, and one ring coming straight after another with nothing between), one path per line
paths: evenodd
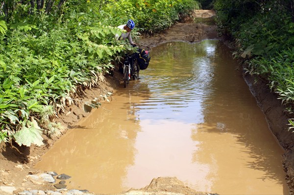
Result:
M35 144L37 146L43 145L43 137L42 135L42 129L37 125L36 121L33 120L33 122L27 121L28 124L30 124L30 127L25 127L25 124L23 124L22 130L19 130L14 134L14 139L16 143L18 143L20 146L30 146L31 144Z

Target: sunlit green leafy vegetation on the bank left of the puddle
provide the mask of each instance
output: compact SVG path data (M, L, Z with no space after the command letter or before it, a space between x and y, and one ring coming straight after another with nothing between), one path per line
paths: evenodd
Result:
M0 142L41 145L42 133L59 135L54 117L132 49L115 39L116 26L133 19L138 39L198 8L195 0L2 0Z

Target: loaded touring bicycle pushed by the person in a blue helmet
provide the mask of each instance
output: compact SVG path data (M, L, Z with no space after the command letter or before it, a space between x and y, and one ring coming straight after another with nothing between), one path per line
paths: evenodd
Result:
M133 80L136 78L139 79L139 71L140 66L138 64L138 60L135 56L136 54L128 54L125 57L125 61L123 62L123 87L127 87L129 81L131 80L131 76Z

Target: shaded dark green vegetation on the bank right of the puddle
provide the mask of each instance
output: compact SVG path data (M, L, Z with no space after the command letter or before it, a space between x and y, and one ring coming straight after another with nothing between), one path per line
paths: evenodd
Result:
M268 81L294 113L294 0L215 0L214 9L220 33L237 43L246 71Z

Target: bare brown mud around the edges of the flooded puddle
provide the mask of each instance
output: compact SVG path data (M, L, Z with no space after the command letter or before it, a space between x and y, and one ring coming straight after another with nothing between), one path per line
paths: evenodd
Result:
M214 16L215 13L210 10L196 10L193 17L208 18ZM161 34L156 34L150 37L142 37L137 41L140 47L149 49L156 45L166 42L183 41L183 42L200 42L204 39L220 39L228 46L231 42L218 37L216 26L206 25L203 23L193 23L193 18L187 19L184 22L174 24L170 29ZM250 75L244 75L250 91L255 96L258 105L265 113L270 130L276 136L279 144L284 148L283 166L286 173L286 180L290 189L290 195L294 195L294 133L288 131L288 116L281 106L281 101L277 100L275 94L270 92L266 83L259 78L253 78ZM105 75L105 78L100 80L98 87L83 88L78 94L79 100L91 101L99 95L104 95L107 92L113 92L119 85L122 84L122 75L118 71L114 71L114 75ZM63 114L60 114L57 122L61 122L67 130L75 128L75 125L82 117L87 117L89 113L85 113L80 102L72 104L66 108ZM63 132L63 134L65 134ZM52 183L49 182L34 182L28 179L28 175L43 173L35 169L33 166L40 161L41 156L47 152L58 138L50 139L43 135L44 145L41 147L18 147L17 144L0 144L0 186L8 186L15 189L7 192L1 191L1 195L18 194L25 190L56 190ZM1 188L3 190L3 188ZM41 192L41 191L40 191ZM40 193L41 194L41 193ZM195 190L185 186L183 182L174 177L159 177L154 178L151 183L142 189L130 189L127 192L122 192L125 195L191 195L207 193L196 192Z

